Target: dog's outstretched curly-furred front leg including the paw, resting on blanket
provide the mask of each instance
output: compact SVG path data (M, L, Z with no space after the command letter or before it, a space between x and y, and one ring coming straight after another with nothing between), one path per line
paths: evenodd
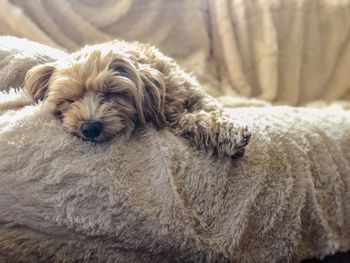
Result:
M223 111L195 111L178 115L171 127L200 149L214 149L220 156L240 157L250 132L237 126Z

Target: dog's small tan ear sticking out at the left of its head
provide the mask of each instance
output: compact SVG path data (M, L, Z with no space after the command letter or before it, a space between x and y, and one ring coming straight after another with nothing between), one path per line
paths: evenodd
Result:
M35 101L44 99L48 83L55 67L50 64L37 65L31 68L24 79L24 89L31 95Z

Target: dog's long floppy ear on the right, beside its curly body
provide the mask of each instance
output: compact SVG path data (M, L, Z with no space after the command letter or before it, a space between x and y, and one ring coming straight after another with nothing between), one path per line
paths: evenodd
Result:
M151 122L157 127L163 127L166 124L165 118L165 85L162 74L152 68L141 72L143 84L143 94L140 103L141 109L138 112L139 119L144 122Z

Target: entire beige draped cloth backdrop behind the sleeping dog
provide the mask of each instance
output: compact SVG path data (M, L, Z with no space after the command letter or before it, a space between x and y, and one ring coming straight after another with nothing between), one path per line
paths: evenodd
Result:
M149 42L214 96L350 98L350 0L0 0L0 33L75 50Z

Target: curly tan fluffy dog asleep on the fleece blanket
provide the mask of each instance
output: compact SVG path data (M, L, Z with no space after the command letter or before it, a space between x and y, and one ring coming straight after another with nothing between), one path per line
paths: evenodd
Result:
M200 149L244 153L250 133L225 115L198 82L155 47L124 41L86 46L28 71L25 90L55 105L71 133L95 142L137 126L168 126Z

